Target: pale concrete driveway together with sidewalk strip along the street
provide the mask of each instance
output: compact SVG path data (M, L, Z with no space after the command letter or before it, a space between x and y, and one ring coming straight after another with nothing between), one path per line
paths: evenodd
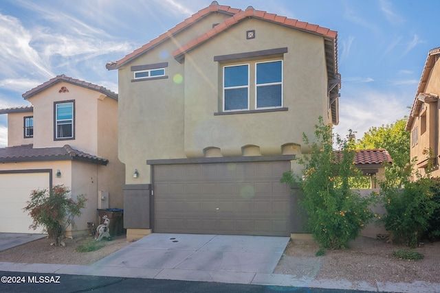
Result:
M0 270L212 281L371 292L439 292L440 284L350 282L272 274L289 237L151 234L91 266L0 262Z

